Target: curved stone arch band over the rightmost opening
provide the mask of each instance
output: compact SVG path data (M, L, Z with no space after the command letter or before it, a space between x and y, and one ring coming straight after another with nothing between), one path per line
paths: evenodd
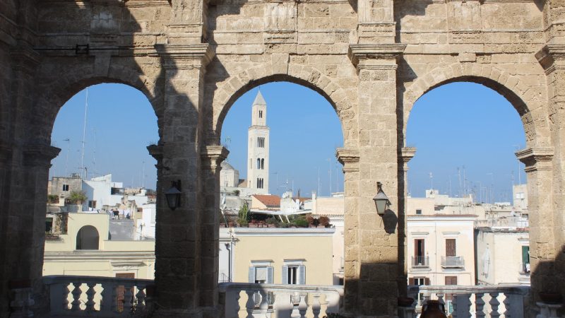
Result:
M547 98L545 91L530 89L528 85L520 82L520 76L497 69L490 64L453 63L449 66L437 67L426 75L418 77L404 93L403 119L399 119L399 121L403 120L403 136L406 135L406 126L412 107L422 95L439 86L463 81L481 84L504 96L522 119L525 141L528 146L541 146L548 142L542 138L548 134L540 131L547 129L545 112L543 112L543 105Z

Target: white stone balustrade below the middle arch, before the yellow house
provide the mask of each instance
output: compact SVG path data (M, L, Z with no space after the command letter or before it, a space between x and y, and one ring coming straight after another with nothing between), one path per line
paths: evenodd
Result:
M219 287L223 318L321 318L338 313L343 298L343 286L220 283Z

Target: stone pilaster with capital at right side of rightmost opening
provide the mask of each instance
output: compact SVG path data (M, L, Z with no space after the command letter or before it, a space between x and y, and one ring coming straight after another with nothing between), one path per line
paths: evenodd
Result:
M528 178L528 211L530 212L530 281L532 294L539 300L541 291L558 290L554 269L556 254L556 217L553 210L553 148L526 148L516 157L525 165Z

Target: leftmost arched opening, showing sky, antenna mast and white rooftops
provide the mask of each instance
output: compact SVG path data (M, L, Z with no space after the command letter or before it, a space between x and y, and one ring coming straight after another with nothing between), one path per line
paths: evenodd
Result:
M114 277L115 257L155 251L157 170L147 150L159 141L155 111L140 90L102 83L78 91L52 121L52 145L61 152L49 170L51 224L43 274ZM76 245L61 244L74 237ZM99 248L121 252L97 260L64 261L74 249ZM140 259L131 272L153 279L154 271L147 269L154 263L155 257ZM81 266L92 270L84 273Z

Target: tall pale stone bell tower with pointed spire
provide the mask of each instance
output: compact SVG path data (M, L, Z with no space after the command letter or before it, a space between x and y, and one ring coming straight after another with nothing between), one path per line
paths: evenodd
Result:
M257 93L251 109L251 126L247 132L247 187L256 194L269 193L269 127L267 103Z

